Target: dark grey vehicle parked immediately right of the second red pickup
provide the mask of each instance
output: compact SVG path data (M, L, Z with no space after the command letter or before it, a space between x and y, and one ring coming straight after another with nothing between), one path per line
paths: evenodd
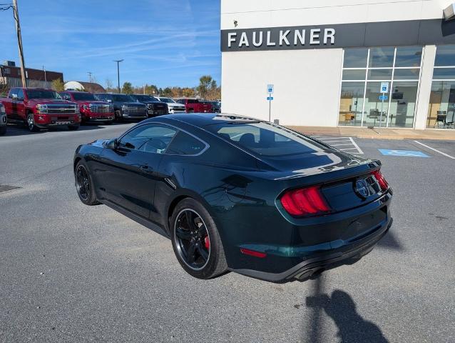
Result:
M147 119L147 106L139 104L136 99L126 94L95 94L96 99L111 102L113 104L116 120L123 119Z

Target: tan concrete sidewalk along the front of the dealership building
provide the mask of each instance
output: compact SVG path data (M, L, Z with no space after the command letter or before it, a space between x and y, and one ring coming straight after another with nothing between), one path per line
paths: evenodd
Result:
M369 139L441 139L455 141L454 129L412 130L412 129L367 129L366 127L338 126L287 126L292 130L310 135L351 136Z

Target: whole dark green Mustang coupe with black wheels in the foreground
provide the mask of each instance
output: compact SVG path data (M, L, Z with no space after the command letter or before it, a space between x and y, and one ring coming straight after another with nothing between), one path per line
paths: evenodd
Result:
M392 225L380 161L285 127L223 114L172 114L81 145L78 196L172 240L182 267L273 282L307 279L370 252Z

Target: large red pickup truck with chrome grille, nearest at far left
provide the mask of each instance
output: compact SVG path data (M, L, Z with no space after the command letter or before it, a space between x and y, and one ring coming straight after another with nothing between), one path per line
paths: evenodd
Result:
M0 98L10 122L22 122L30 131L50 126L68 126L77 130L81 124L79 105L61 99L52 89L11 88L7 98Z

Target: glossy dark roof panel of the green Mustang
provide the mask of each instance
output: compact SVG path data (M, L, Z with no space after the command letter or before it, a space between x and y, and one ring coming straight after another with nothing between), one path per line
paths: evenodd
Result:
M215 113L192 113L192 114L167 114L165 116L158 116L148 121L160 121L168 119L170 121L176 120L183 123L191 124L194 126L206 126L210 124L221 124L227 122L249 122L249 121L261 121L259 119L250 118L247 116L237 116L235 114L215 114Z

